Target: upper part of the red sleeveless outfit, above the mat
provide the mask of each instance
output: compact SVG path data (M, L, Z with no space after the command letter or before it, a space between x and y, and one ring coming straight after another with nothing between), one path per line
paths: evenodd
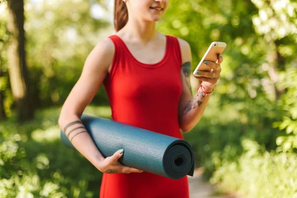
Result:
M176 38L166 38L163 58L145 64L132 55L120 37L111 36L115 54L103 84L115 121L182 138L178 123L181 52Z

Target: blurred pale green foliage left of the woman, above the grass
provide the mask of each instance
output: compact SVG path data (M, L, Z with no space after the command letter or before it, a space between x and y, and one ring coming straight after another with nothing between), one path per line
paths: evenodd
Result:
M104 3L98 0L108 13ZM0 60L1 71L7 84L6 44L9 32L6 29L7 5L0 4ZM96 46L111 33L109 18L96 19L91 15L91 6L96 1L64 0L25 0L26 61L29 67L32 100L36 107L61 105L78 81L84 62ZM10 85L5 90L5 111L11 115L13 99ZM94 104L108 104L101 86Z

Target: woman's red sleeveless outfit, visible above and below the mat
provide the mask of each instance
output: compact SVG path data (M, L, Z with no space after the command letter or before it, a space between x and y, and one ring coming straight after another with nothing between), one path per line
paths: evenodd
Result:
M177 38L166 35L165 54L155 64L138 61L120 37L109 38L115 52L103 85L113 120L183 139L178 122L182 58ZM172 180L147 172L103 174L100 198L167 197L189 197L187 176Z

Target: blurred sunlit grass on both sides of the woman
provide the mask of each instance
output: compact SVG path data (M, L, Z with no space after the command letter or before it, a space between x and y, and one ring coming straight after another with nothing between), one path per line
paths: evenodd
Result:
M293 170L296 154L268 152L265 145L275 139L261 138L278 129L245 120L242 112L228 105L217 113L216 100L215 95L210 98L212 105L206 107L197 126L183 133L194 149L196 166L204 169L204 179L218 184L217 193L240 191L265 197L264 189L269 195L284 190L292 195L295 186L282 185L280 190L276 185L280 179L296 183L297 177L282 168ZM52 107L39 110L34 120L23 124L16 123L14 116L0 123L0 198L98 197L102 173L76 150L61 144L59 113L60 107ZM89 105L84 114L111 119L109 106ZM248 192L250 188L253 192Z

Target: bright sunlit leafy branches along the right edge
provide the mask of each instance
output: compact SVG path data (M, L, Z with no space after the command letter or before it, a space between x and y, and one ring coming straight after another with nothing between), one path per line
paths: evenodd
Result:
M256 32L267 43L267 63L273 93L285 110L274 127L286 129L277 138L278 150L297 148L297 2L252 0L259 12L252 18Z

